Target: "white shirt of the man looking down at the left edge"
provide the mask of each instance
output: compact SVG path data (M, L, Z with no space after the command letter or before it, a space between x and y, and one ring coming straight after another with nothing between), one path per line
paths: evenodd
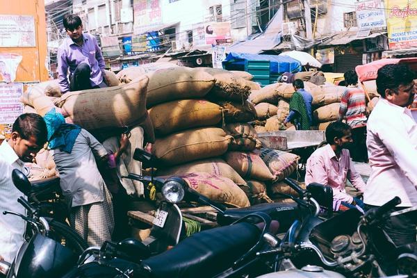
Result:
M0 145L0 256L11 263L19 247L24 243L26 222L15 215L3 215L3 211L13 211L26 215L17 198L24 196L12 181L12 171L17 169L28 175L29 170L19 159L6 140Z

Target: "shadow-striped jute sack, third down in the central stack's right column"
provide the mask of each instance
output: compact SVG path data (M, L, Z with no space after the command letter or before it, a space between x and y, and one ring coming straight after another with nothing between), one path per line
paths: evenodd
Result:
M252 151L262 146L261 141L256 138L256 131L250 124L227 124L224 131L233 137L229 145L231 151Z

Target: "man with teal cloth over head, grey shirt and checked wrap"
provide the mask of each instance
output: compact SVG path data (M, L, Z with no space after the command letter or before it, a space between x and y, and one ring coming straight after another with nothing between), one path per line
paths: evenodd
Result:
M122 135L120 149L108 154L88 131L75 124L66 124L63 115L55 109L49 111L44 120L60 187L70 207L70 224L88 245L101 246L104 241L111 240L114 217L111 195L95 158L114 168L115 161L126 149L128 138Z

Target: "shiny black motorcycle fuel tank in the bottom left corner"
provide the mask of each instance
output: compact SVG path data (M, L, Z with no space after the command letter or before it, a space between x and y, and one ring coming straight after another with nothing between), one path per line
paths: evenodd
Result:
M8 278L61 277L76 264L76 254L57 241L37 234L20 248Z

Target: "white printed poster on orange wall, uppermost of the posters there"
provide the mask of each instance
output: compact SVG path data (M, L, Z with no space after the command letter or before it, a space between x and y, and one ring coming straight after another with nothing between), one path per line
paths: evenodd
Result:
M33 16L0 15L0 47L36 47Z

